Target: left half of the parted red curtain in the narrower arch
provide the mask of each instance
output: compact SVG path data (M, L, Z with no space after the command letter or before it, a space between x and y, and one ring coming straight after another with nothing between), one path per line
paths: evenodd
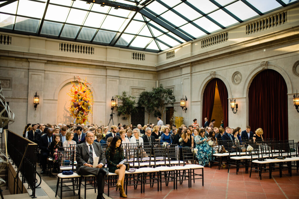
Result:
M205 125L205 117L211 121L214 99L215 99L216 79L212 79L206 86L202 101L202 126Z

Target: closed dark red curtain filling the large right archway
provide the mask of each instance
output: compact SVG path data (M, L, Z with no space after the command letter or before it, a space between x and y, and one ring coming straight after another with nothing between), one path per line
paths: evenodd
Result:
M217 82L218 83L218 82ZM249 87L249 125L263 138L288 139L288 97L283 77L274 70L259 73Z

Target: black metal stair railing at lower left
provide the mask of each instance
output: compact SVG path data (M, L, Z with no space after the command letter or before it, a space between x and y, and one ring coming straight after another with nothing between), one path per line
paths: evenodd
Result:
M17 166L18 171L14 176L14 186L17 185L16 194L18 190L23 192L24 180L28 183L28 186L32 190L32 197L35 198L36 188L36 151L37 144L30 140L7 130L7 153L10 159ZM19 172L22 174L21 189L19 188ZM15 194L15 187L13 189Z

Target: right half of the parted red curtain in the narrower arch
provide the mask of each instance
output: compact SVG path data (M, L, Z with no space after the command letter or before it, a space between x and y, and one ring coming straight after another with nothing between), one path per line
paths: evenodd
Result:
M223 109L224 128L228 126L228 92L227 88L221 79L216 79L220 101Z

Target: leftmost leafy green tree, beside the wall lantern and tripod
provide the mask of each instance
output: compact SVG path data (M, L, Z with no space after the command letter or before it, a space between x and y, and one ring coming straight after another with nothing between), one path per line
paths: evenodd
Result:
M135 114L137 109L135 108L135 98L134 96L127 96L126 91L123 91L122 95L116 95L118 100L122 101L122 105L116 106L118 111L117 116L123 116L121 119L127 120L128 125L130 125L131 114Z

